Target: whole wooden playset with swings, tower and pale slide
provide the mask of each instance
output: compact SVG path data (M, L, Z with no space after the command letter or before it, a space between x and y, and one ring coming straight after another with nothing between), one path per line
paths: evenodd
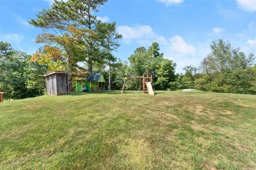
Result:
M124 85L123 85L121 94L123 94L124 91L125 91L125 82L126 82L126 80L127 79L133 79L133 78L136 79L136 80L138 78L142 79L142 92L143 93L148 93L149 95L154 96L154 91L153 91L153 88L152 88L153 78L152 78L152 75L149 76L148 69L146 69L146 71L144 72L144 74L142 76L125 77L124 78ZM134 80L134 82L135 82L135 80ZM136 89L137 89L137 81L136 81Z

